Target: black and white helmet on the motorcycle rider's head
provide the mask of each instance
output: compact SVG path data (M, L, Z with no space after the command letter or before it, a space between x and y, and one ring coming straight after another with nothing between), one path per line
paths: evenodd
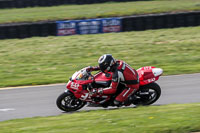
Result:
M104 54L99 58L98 63L102 72L110 72L115 64L115 59L111 54Z

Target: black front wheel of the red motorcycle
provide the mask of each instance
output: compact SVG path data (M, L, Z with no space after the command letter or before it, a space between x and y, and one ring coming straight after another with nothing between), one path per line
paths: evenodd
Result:
M81 109L86 102L77 99L73 93L64 92L56 100L57 107L65 112Z

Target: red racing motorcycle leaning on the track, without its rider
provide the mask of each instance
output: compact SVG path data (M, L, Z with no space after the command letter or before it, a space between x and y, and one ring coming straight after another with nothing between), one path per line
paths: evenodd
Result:
M155 83L162 75L161 68L152 66L142 67L137 70L139 75L140 88L131 95L124 103L125 106L133 105L150 105L158 100L161 95L160 86ZM81 109L86 103L98 105L101 107L116 106L113 101L125 87L123 84L118 85L117 92L113 95L97 95L90 97L92 88L109 87L112 80L112 73L98 72L94 76L86 69L75 72L66 85L66 90L56 101L59 109L70 112Z

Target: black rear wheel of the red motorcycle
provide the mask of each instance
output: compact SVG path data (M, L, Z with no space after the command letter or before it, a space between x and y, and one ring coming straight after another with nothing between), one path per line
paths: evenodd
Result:
M158 100L161 95L160 86L157 83L150 83L142 86L135 94L136 100L133 102L135 105L150 105Z

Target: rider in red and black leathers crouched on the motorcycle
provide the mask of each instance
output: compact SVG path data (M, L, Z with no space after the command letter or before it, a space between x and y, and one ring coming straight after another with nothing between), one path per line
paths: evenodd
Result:
M101 70L104 73L112 72L112 82L110 87L96 88L92 90L92 95L114 94L119 83L125 85L124 90L115 98L114 104L121 105L128 97L139 89L138 73L124 61L115 60L111 54L105 54L98 60L99 66L87 67L87 71Z

